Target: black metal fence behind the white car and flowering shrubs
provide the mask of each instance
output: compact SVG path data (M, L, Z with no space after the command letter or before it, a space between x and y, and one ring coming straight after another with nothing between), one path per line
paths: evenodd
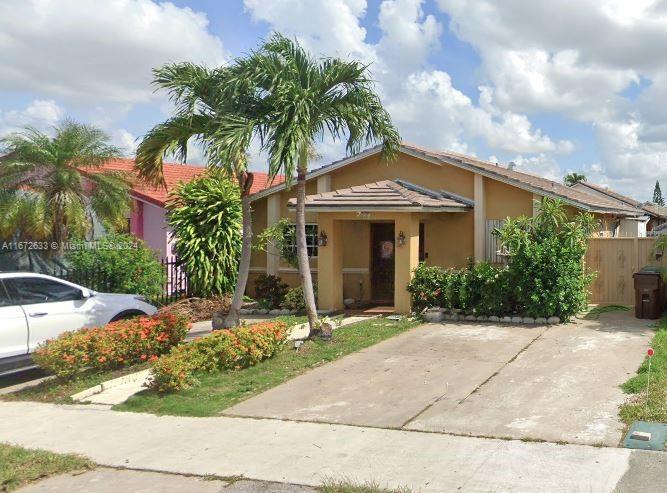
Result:
M192 292L188 277L179 259L176 257L163 258L160 264L165 274L162 291L161 294L149 301L160 306L191 297ZM94 291L113 292L115 290L114 279L104 269L100 268L81 270L58 267L53 275Z

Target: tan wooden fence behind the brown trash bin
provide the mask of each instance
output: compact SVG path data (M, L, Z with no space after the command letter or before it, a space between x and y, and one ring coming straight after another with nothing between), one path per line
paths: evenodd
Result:
M597 272L591 303L634 305L632 274L647 265L664 265L653 254L654 238L591 238L586 267Z

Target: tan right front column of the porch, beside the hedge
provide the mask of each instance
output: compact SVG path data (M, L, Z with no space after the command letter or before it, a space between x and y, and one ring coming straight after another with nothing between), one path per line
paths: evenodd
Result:
M403 245L399 240L401 232L405 237ZM410 293L407 287L412 279L412 271L419 265L419 216L411 213L397 214L394 234L394 308L399 313L410 313Z

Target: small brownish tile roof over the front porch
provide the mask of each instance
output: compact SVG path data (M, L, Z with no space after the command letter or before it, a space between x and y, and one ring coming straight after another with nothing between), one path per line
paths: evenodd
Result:
M446 191L435 191L404 180L383 180L333 192L306 196L309 209L339 210L466 210L473 202ZM290 199L288 207L296 206Z

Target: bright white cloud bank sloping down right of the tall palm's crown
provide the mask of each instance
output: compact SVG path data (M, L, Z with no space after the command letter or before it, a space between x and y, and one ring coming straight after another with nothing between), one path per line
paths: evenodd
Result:
M423 0L384 0L378 18L382 36L369 43L360 26L365 1L245 0L254 19L296 35L315 53L373 59L378 89L406 140L460 152L474 152L467 144L473 139L514 153L571 152L571 143L552 141L525 115L501 111L488 97L475 104L453 87L448 73L425 70L429 55L439 47L442 26L433 15L424 14L422 4Z

